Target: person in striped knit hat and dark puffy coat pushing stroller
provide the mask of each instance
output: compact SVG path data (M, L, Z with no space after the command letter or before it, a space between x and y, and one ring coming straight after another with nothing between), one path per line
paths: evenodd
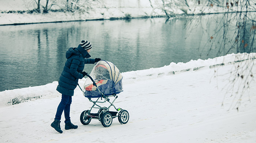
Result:
M89 52L92 45L89 41L82 40L77 48L69 48L66 52L67 61L63 71L61 72L59 85L57 91L60 92L61 102L57 107L56 115L51 126L59 133L63 131L60 128L60 119L64 111L65 116L65 130L76 129L78 126L71 123L70 120L70 104L74 90L78 85L78 79L82 79L87 73L83 72L84 64L94 64L100 61L100 58L88 59L91 57Z

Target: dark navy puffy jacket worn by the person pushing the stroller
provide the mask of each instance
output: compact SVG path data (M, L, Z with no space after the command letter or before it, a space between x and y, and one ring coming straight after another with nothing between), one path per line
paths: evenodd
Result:
M80 45L77 48L69 48L66 52L67 61L61 72L57 91L61 94L73 96L74 90L78 84L78 79L83 78L84 64L94 64L94 59Z

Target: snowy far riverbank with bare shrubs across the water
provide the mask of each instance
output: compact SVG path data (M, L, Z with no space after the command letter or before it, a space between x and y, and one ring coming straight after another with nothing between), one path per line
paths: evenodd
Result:
M56 0L48 13L42 9L45 1L41 0L41 13L35 11L37 5L31 0L0 1L0 25L19 25L87 20L116 20L145 17L172 17L176 15L198 15L209 13L244 11L243 4L206 3L186 0L172 3L162 0L94 0L84 3L70 3ZM72 5L75 5L72 7ZM223 6L224 5L224 6ZM252 4L247 11L255 11ZM79 8L78 8L79 7Z

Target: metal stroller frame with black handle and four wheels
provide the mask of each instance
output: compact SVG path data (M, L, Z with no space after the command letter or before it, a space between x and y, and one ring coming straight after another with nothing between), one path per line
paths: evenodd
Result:
M116 99L118 98L118 96L116 94L113 95L109 95L106 96L104 95L98 88L97 84L94 82L93 78L91 78L90 75L86 74L86 76L88 76L91 81L93 82L93 85L96 87L96 89L99 91L99 93L101 94L101 97L99 97L97 100L92 100L91 98L88 98L90 102L93 103L93 106L91 107L90 110L85 110L81 113L80 115L80 122L84 125L87 125L91 122L91 119L98 119L102 126L104 127L109 127L112 124L112 120L113 118L118 117L118 121L121 124L126 124L129 120L129 113L127 110L123 110L121 108L116 108L116 106L114 106L114 102L116 101ZM79 84L78 84L79 86ZM79 86L80 90L83 92L84 96L85 96L85 92L82 90L82 88ZM110 102L109 97L114 97L114 100L112 102ZM99 99L102 100L102 98L104 98L104 101L101 102L99 101ZM98 103L110 103L109 107L101 107L100 105L98 105ZM97 107L95 107L97 106ZM110 107L114 107L116 109L116 111L109 111ZM93 108L99 109L97 113L91 113L91 110ZM118 115L117 115L118 114Z

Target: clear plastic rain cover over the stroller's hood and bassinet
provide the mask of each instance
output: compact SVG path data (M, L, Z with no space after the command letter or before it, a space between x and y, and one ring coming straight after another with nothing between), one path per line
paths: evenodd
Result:
M104 95L119 94L123 91L122 79L119 69L109 61L98 61L91 71L90 76L94 79L98 89ZM101 93L93 85L90 78L86 78L84 83L84 96L87 98L99 98Z

